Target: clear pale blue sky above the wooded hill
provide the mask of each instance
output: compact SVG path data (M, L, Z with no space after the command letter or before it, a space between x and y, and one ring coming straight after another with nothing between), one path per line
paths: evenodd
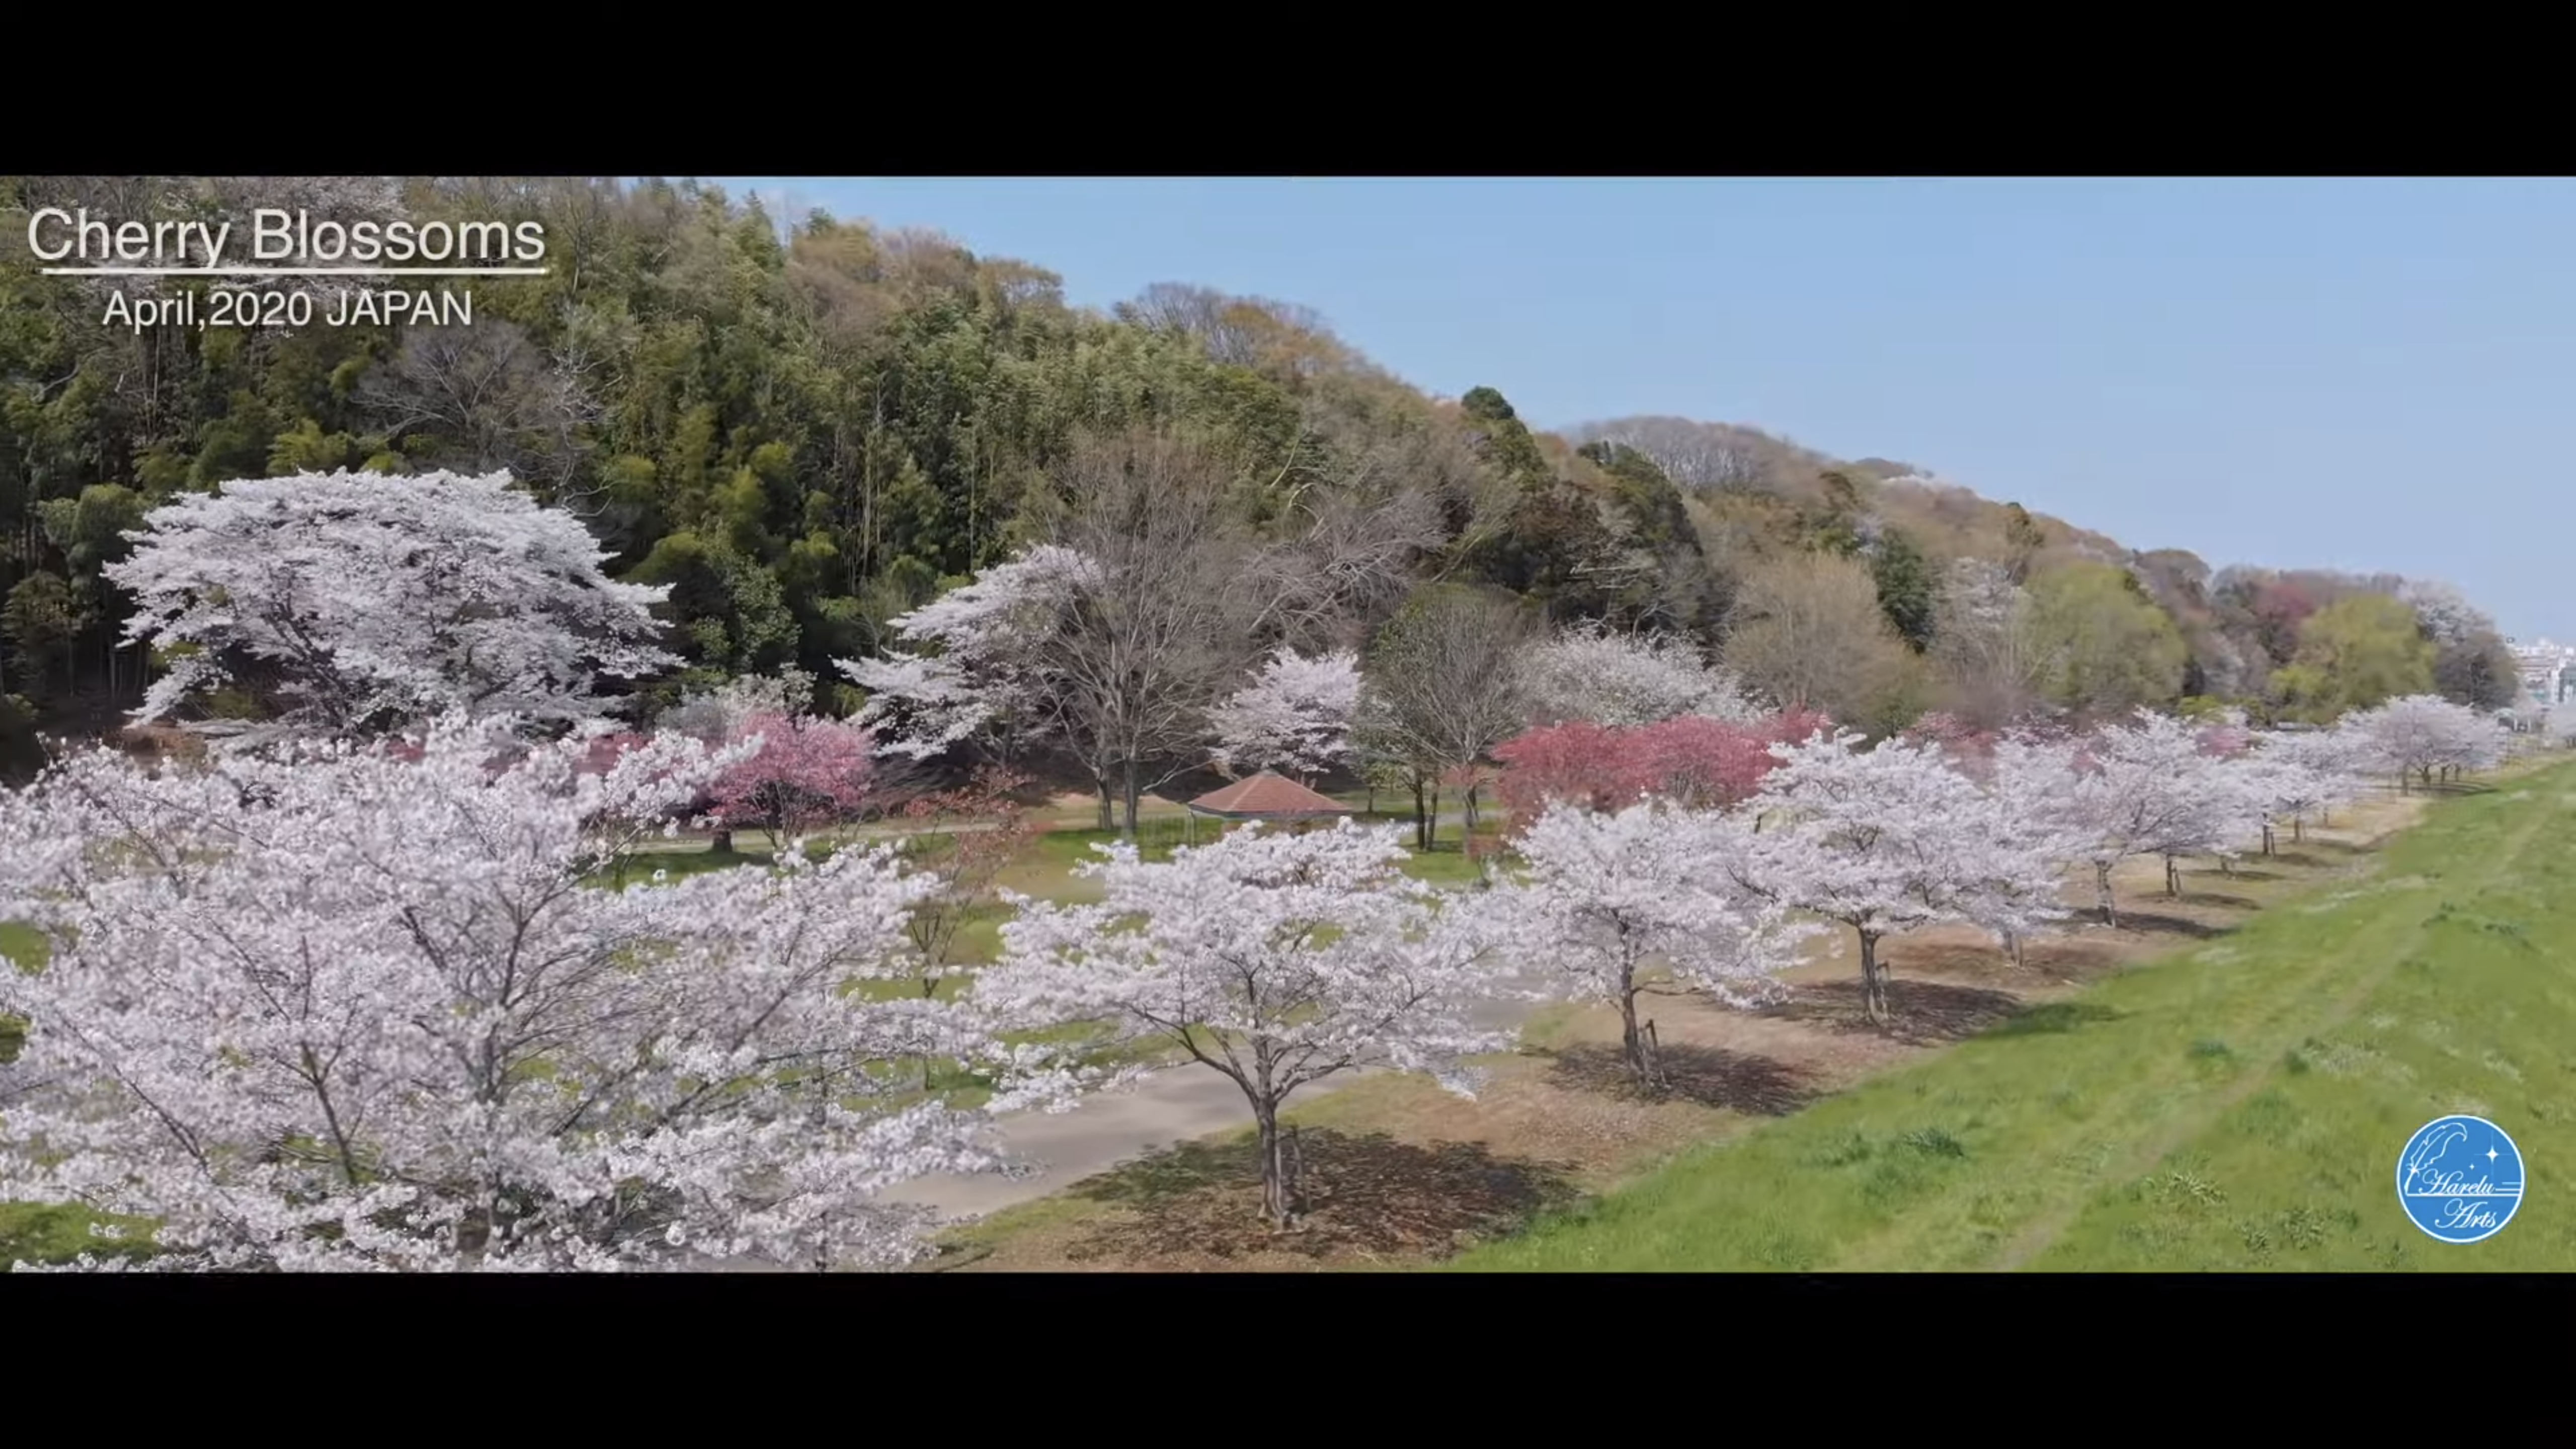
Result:
M1540 428L1891 456L2125 544L2447 578L2576 634L2576 180L711 178L1105 307L1301 302Z

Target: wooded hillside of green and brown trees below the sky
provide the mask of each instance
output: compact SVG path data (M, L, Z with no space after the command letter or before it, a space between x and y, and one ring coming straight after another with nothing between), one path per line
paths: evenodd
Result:
M1164 536L1177 495L1208 500L1198 567L1273 580L1247 624L1270 642L1368 647L1427 585L1486 588L1553 624L1682 634L1868 730L2195 699L2331 719L2514 686L2447 588L2213 572L1741 425L1533 433L1512 379L1425 397L1291 304L1172 284L1095 315L1033 263L783 227L696 183L0 178L0 206L10 771L36 730L113 730L142 699L152 660L118 650L131 601L100 570L144 511L330 469L507 469L580 513L611 572L670 585L688 670L639 706L801 668L845 714L835 660L894 647L896 616L1069 526ZM36 273L39 206L541 222L554 273L474 281L469 327L137 333L103 325L103 286L147 284Z

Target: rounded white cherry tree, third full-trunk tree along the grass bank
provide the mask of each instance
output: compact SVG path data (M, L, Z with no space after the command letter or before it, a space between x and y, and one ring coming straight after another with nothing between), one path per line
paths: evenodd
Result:
M1780 755L1747 804L1762 817L1747 884L1847 926L1860 941L1862 1011L1888 1021L1878 944L1899 931L1994 913L2038 869L2002 810L1940 745L1819 732Z

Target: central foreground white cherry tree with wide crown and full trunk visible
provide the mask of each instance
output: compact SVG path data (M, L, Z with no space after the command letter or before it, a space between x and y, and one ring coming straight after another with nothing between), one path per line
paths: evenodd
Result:
M1157 864L1133 843L1092 848L1105 859L1077 869L1103 900L1005 892L1018 918L971 1000L1002 1026L1108 1021L1221 1073L1252 1106L1275 1227L1298 1212L1278 1124L1288 1093L1386 1065L1473 1096L1461 1060L1512 1042L1473 1021L1502 995L1492 936L1401 874L1396 828L1252 825Z

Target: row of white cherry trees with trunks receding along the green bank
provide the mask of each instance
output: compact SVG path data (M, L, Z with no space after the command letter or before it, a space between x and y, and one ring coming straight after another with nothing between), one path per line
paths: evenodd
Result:
M1803 730L1803 732L1801 732ZM1932 923L1994 931L2014 957L2066 920L2066 869L2089 864L2105 923L2112 871L2136 856L2228 859L2300 830L2398 771L2476 771L2494 722L2403 699L2331 732L2254 735L2141 712L2099 732L1886 740L1808 719L1553 727L1517 761L1520 866L1448 895L1406 879L1391 830L1260 828L1144 861L1128 843L1084 866L1097 902L1012 897L1002 959L974 1000L1012 1021L1087 1018L1149 1036L1244 1093L1265 1209L1288 1222L1288 1093L1360 1065L1435 1073L1473 1093L1473 1052L1510 1036L1479 1006L1607 1000L1631 1070L1662 1085L1638 1024L1649 964L1723 1003L1777 998L1819 931L1860 946L1862 1000L1888 1018L1880 944ZM1571 755L1592 740L1597 771ZM1507 776L1510 779L1510 776ZM1620 797L1618 792L1625 792ZM1520 985L1535 972L1538 985Z

